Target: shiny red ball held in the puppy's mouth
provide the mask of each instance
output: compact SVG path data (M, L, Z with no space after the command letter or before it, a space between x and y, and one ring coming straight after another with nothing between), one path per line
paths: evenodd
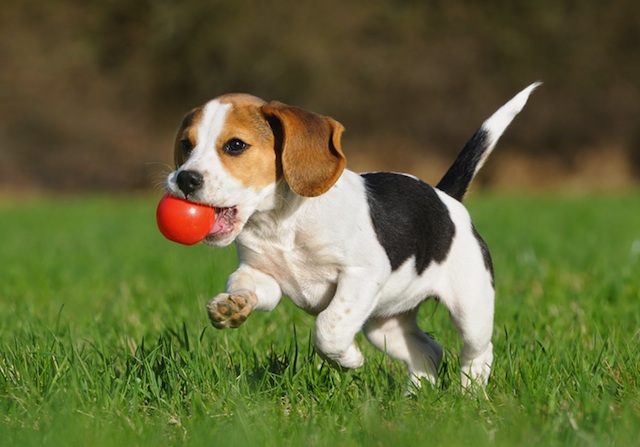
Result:
M156 221L167 239L193 245L211 232L216 222L216 211L213 207L165 194L158 203Z

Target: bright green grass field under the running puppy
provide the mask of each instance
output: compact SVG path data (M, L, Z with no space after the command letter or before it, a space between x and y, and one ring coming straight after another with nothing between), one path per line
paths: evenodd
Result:
M637 445L640 193L468 200L496 264L495 363L459 389L446 310L435 388L373 350L358 371L313 353L289 302L217 331L205 314L233 248L182 247L159 197L0 201L0 444Z

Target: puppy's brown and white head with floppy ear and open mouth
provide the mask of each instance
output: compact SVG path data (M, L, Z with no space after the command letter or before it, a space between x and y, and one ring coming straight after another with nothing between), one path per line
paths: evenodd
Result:
M276 206L277 185L303 197L327 192L344 170L343 130L297 107L224 95L185 116L166 187L215 207L218 223L205 242L228 245L255 211Z

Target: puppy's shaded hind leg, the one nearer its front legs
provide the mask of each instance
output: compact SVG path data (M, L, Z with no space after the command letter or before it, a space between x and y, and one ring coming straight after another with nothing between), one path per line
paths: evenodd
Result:
M420 387L423 378L436 383L442 347L418 327L417 313L416 308L392 317L371 318L363 331L376 348L402 360L409 370L410 385Z

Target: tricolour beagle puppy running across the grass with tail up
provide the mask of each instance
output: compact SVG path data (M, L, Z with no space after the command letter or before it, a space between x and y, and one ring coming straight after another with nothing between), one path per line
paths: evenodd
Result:
M442 360L442 347L416 323L434 298L462 340L462 385L484 386L493 266L461 200L538 85L486 120L435 188L406 174L345 169L343 126L297 107L228 94L189 112L166 189L215 207L204 243L235 241L239 259L226 291L208 303L213 325L238 327L287 295L317 317L316 351L332 365L363 364L354 342L362 330L420 386L436 382Z

